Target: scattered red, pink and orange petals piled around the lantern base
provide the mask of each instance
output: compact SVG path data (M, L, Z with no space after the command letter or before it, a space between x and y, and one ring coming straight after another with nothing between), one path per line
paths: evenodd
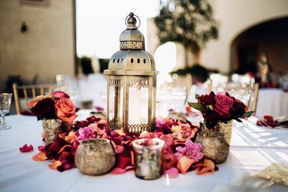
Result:
M182 122L171 118L161 118L155 121L154 132L143 131L139 135L122 130L107 130L106 121L91 116L85 121L76 121L70 133L63 133L47 146L39 146L40 151L33 156L35 161L52 160L49 167L60 172L76 167L74 159L80 143L90 138L106 138L116 153L116 164L112 174L123 174L134 169L132 141L139 138L159 138L165 142L163 151L164 176L178 176L179 172L196 170L197 174L213 173L218 167L203 157L203 148L193 141L196 139L199 127L190 122Z

